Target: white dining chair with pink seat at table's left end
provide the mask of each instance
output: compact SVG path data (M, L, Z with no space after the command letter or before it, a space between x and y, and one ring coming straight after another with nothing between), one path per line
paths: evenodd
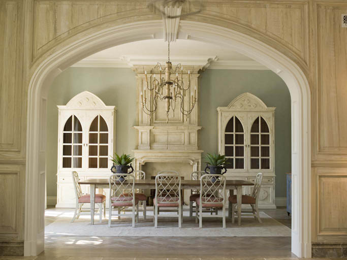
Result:
M71 222L74 222L75 219L78 219L80 215L89 215L90 212L87 210L82 210L83 204L90 203L90 194L84 194L81 190L81 185L78 184L79 177L77 172L72 172L72 180L74 183L74 189L76 194L76 208L75 208L75 214L72 218ZM95 203L98 204L99 207L99 222L102 223L103 221L103 206L104 206L104 217L106 217L106 196L104 194L95 194ZM88 212L88 213L86 213Z

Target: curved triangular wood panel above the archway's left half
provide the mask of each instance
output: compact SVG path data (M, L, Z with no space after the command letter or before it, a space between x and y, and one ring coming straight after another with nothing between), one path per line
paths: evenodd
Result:
M132 22L136 14L155 15L146 1L42 1L34 2L33 60L52 48L60 40L81 32L93 25L127 19ZM54 40L54 41L53 41Z

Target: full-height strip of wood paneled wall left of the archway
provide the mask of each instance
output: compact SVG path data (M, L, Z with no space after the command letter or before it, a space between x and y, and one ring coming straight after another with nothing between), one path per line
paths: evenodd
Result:
M23 1L0 3L0 242L24 240L26 86ZM0 243L1 244L1 243ZM1 251L6 248L0 246Z

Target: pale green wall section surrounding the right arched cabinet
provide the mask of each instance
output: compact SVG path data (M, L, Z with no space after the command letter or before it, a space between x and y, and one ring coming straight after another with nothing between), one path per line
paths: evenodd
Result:
M203 129L199 134L199 148L217 152L216 108L227 107L244 92L250 92L268 107L276 108L276 197L286 197L285 173L291 170L291 98L285 82L272 71L206 70L201 75L199 124Z

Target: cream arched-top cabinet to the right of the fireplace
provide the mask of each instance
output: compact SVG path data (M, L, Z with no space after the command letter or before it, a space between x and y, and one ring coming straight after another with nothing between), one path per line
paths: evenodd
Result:
M218 107L218 152L227 158L227 179L255 181L263 173L259 207L275 206L274 111L257 96L244 93ZM245 187L244 194L251 194ZM245 206L248 207L248 206Z

